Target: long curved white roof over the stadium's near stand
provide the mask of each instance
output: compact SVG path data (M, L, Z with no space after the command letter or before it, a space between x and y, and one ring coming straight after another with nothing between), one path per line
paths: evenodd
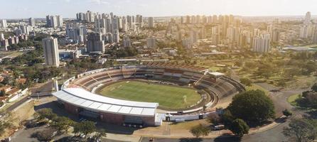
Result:
M154 116L158 103L133 102L93 94L81 88L67 88L53 95L63 102L92 111L131 116Z

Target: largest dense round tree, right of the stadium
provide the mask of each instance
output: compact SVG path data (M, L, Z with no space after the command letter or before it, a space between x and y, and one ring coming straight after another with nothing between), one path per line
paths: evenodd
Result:
M235 95L227 109L232 116L243 119L248 124L260 124L275 117L272 100L259 89Z

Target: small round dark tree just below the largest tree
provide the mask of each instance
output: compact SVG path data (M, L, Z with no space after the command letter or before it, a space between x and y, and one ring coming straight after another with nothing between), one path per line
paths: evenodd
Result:
M243 135L249 133L249 126L242 119L235 119L228 128L236 136L242 137Z

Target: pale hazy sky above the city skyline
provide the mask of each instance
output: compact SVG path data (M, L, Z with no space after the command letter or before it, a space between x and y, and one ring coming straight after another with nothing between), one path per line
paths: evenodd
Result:
M1 18L75 18L87 10L118 16L184 16L233 14L239 16L317 15L317 0L0 0Z

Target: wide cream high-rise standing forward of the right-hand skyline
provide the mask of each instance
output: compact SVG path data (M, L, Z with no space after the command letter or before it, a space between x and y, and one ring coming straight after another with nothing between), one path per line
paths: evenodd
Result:
M268 53L271 50L270 46L271 35L269 33L262 33L253 38L253 51L257 53Z

